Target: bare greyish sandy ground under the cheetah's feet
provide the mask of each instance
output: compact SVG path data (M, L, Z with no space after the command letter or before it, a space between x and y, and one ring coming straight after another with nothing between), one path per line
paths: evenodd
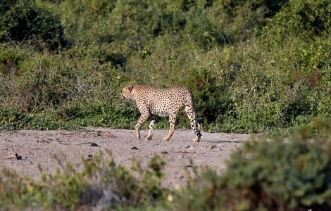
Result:
M142 130L142 137L147 131ZM46 173L54 174L58 155L63 162L68 160L79 166L82 158L96 155L105 149L111 150L120 165L131 166L132 158L142 161L142 165L154 155L165 156L165 186L185 183L184 169L189 167L189 158L198 167L213 167L218 172L225 170L225 162L230 153L249 138L248 134L225 134L203 132L203 139L193 143L191 130L176 130L170 141L161 141L168 131L156 129L152 141L137 141L135 132L125 129L87 128L82 131L66 130L0 131L0 170L9 168L20 175L30 175L39 179L39 167ZM98 146L91 146L96 143ZM8 158L15 151L21 160Z

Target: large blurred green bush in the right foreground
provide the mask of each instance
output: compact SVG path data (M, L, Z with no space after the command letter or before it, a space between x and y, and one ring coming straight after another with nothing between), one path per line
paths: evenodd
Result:
M323 135L311 139L311 129ZM288 140L249 139L220 176L214 170L191 173L174 210L328 210L330 129L330 120L320 120Z

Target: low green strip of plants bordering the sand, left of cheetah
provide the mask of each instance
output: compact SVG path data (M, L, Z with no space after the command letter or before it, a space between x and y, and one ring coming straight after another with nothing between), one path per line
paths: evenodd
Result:
M88 126L131 129L135 127L138 116L137 109L123 104L80 102L68 103L44 113L1 108L0 125L6 129L80 129ZM168 122L158 122L158 127L168 128Z

